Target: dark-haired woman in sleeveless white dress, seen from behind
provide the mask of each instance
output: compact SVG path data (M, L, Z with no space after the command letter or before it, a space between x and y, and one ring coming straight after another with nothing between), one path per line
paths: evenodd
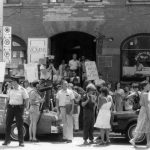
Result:
M109 95L107 87L101 88L101 107L96 119L94 127L100 129L101 133L101 143L110 143L109 132L111 129L110 118L111 118L111 107L112 107L112 97ZM106 142L104 141L104 135L106 134Z

